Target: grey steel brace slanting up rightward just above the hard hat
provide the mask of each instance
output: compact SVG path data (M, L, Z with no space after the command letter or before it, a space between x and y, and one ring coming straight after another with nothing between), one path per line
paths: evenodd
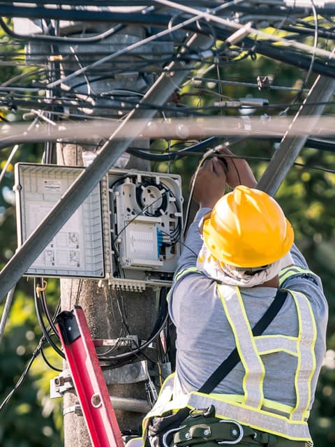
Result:
M267 169L263 173L257 188L274 196L281 186L283 179L287 175L293 163L297 159L302 147L304 147L308 135L296 136L295 128L299 125L299 117L312 117L311 134L313 125L317 124L320 115L322 115L327 101L332 97L335 90L335 80L318 76L313 87L308 93L304 103L302 103L295 115L288 131L286 131L279 148L272 156Z

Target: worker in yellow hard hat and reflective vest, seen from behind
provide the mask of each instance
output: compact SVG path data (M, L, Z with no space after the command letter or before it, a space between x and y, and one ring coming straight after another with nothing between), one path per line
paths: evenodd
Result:
M225 163L214 156L195 178L200 209L170 292L176 372L144 431L154 446L311 446L307 420L327 328L322 284L293 243L281 207L255 189L248 163L218 150ZM285 296L280 310L254 336L278 291ZM210 393L199 393L234 348L237 365ZM192 418L169 425L185 407Z

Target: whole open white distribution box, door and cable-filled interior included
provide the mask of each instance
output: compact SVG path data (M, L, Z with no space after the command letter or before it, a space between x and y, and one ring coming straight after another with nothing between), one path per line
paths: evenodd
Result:
M84 168L17 163L19 246ZM182 234L178 175L112 169L27 270L29 276L108 279L143 290L170 285Z

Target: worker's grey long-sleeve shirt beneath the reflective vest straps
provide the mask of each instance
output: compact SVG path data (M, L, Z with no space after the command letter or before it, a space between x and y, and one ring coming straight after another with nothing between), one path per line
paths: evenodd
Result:
M198 232L201 217L208 208L198 211L188 230L185 248L179 258L176 271L195 267L202 247ZM295 247L291 249L295 265L308 268L304 256ZM312 396L325 356L325 334L328 318L327 300L322 291L320 278L315 274L295 274L281 285L292 291L304 293L311 303L318 337L315 343L316 369L311 383ZM251 327L258 322L274 299L277 288L256 286L240 288ZM204 274L192 273L182 277L172 287L169 302L170 316L177 328L177 363L174 381L174 397L198 390L212 372L227 358L236 346L230 323L223 311L221 299L216 292L216 281ZM297 310L290 295L281 311L271 322L264 334L297 336ZM265 398L295 406L295 369L297 358L288 353L270 353L262 356L265 364ZM214 393L242 395L244 367L241 362L217 386ZM313 397L312 402L313 403Z

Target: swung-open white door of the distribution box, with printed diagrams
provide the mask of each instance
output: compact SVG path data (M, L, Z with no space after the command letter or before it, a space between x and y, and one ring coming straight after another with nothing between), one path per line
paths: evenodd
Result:
M19 246L40 225L68 187L78 168L17 163L17 236ZM43 277L105 277L103 211L98 185L27 270Z

